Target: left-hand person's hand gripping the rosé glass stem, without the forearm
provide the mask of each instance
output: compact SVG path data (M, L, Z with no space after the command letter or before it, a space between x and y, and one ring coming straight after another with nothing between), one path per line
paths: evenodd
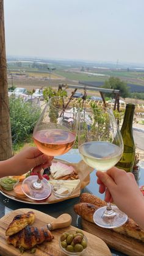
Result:
M18 169L17 175L24 174L32 169L32 172L38 172L38 177L41 179L40 170L51 166L52 156L46 156L36 147L29 147L21 150L20 153L13 156L13 163Z

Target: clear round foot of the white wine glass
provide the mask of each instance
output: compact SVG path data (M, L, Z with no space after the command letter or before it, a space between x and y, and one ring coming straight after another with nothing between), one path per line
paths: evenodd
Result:
M112 205L112 210L115 211L115 214L112 217L104 216L106 208L107 207L101 207L98 210L96 210L93 214L93 221L99 227L104 227L106 229L114 229L116 227L120 227L127 221L128 216L122 211L120 211L118 207L115 205Z

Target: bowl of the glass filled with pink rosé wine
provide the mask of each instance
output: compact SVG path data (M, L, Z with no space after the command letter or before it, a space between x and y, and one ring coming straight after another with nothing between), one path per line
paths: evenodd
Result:
M74 145L77 131L77 108L62 97L52 97L34 128L38 149L48 156L67 153ZM65 106L67 108L65 109Z

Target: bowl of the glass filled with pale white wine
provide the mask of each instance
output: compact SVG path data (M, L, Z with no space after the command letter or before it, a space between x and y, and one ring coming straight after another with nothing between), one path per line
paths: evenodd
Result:
M111 109L85 109L81 113L79 153L89 166L101 171L120 160L123 139Z

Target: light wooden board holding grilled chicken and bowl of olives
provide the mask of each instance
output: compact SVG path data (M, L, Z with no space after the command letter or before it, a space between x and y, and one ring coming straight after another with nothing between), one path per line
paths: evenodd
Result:
M27 211L34 211L35 213L35 227L46 227L46 224L50 223L54 218L45 214L41 213L41 211L29 209L29 208L23 208L18 209L15 211L12 211L2 217L0 219L0 255L2 256L21 256L19 249L16 249L13 245L7 244L7 241L5 240L5 230L7 229L10 222L13 220L15 215L17 214L23 214L27 213ZM30 250L27 250L24 252L24 256L64 256L62 251L60 251L59 247L59 237L60 235L68 230L75 230L76 227L70 226L65 229L57 229L52 231L52 234L54 235L54 240L51 242L44 242L43 244L38 245L37 250L34 254L30 253ZM109 256L111 255L109 247L107 247L106 243L104 243L103 240L98 238L95 235L92 235L90 233L84 232L85 236L87 236L88 240L88 247L85 254L82 254L84 256Z

